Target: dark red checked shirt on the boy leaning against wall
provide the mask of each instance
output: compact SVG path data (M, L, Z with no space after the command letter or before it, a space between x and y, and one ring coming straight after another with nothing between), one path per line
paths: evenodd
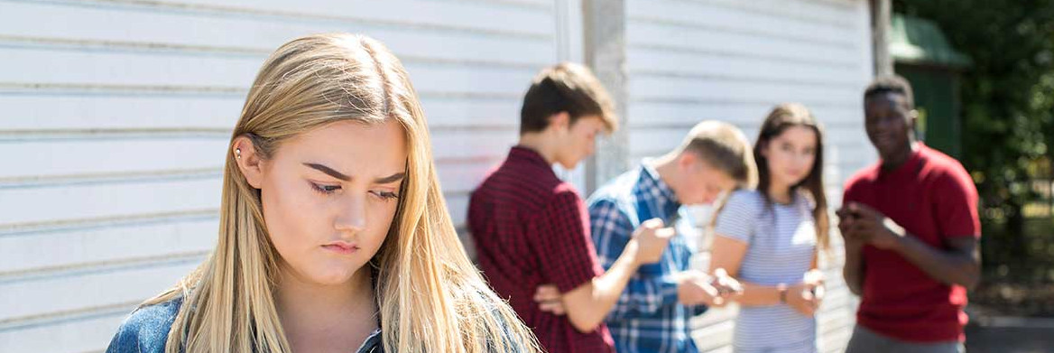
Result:
M472 193L468 223L483 274L547 352L613 351L604 325L582 333L567 316L543 312L534 302L541 285L567 293L604 273L582 197L541 155L512 148Z

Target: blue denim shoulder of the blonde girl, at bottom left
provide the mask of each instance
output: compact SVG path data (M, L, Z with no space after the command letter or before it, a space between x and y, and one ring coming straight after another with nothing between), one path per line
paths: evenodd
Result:
M160 353L179 313L182 297L136 309L121 322L106 353Z

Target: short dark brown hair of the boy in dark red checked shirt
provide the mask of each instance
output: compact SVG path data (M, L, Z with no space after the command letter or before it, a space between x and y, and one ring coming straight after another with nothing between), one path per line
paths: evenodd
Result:
M520 134L545 130L549 117L567 112L570 122L583 116L600 116L608 133L619 129L607 90L588 67L562 62L542 70L524 95L520 110Z

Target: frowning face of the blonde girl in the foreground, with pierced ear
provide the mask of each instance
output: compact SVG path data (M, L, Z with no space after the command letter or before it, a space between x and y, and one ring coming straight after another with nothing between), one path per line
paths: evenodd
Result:
M341 285L376 254L406 172L406 137L397 122L324 125L282 141L266 160L246 138L235 146L239 168L260 190L282 271L307 282Z

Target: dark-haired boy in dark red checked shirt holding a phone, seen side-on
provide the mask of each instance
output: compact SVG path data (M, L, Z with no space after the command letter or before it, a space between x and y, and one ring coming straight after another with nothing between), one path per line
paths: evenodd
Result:
M641 264L659 261L674 230L644 222L605 273L589 235L589 214L553 163L573 169L592 154L597 134L618 128L610 98L588 68L545 68L524 97L519 144L469 201L480 268L534 331L547 352L613 352L604 317ZM562 301L534 301L554 285ZM559 308L558 313L547 312ZM566 313L564 312L566 311Z

